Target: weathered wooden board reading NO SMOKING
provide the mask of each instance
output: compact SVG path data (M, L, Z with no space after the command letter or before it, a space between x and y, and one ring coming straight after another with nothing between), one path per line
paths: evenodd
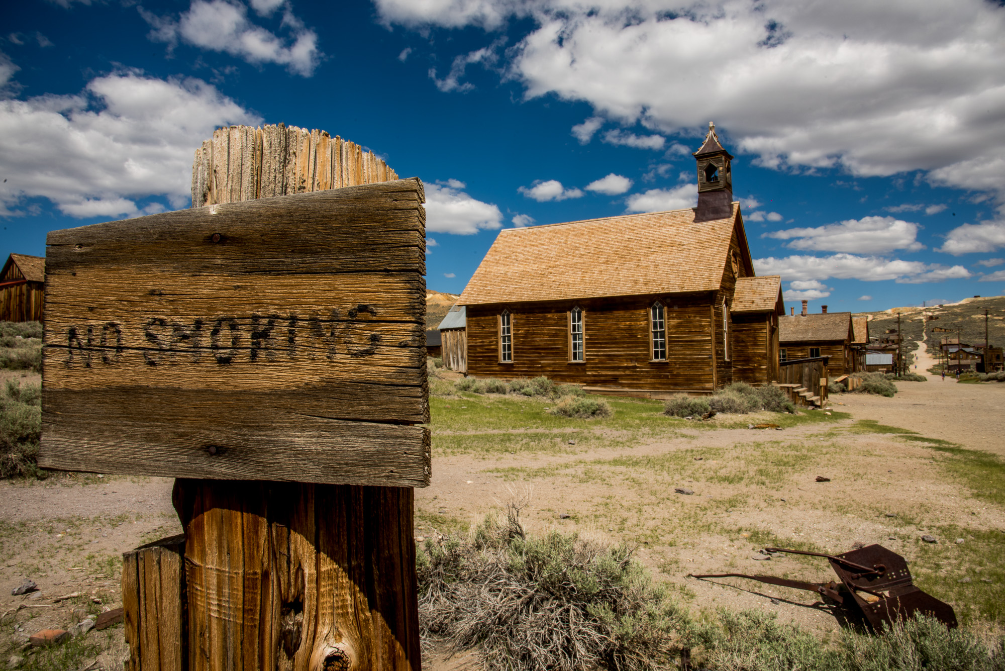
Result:
M49 233L46 468L425 486L417 179Z

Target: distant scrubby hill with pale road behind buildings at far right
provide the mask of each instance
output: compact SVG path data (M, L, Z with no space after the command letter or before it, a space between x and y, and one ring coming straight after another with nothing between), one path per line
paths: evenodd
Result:
M887 328L896 330L896 315L900 313L900 332L903 334L904 349L916 350L914 341L922 340L925 315L937 316L928 322L929 338L926 344L930 352L938 351L940 338L956 338L967 345L984 345L984 310L989 311L988 342L997 347L1005 347L1005 296L964 298L958 303L944 303L929 307L891 307L880 312L858 312L856 316L869 318L869 336L881 336ZM952 332L933 332L932 329L951 328Z

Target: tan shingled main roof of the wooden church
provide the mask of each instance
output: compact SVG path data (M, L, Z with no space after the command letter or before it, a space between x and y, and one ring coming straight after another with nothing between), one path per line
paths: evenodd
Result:
M732 216L697 224L686 208L508 228L457 303L717 290L739 214L734 203Z

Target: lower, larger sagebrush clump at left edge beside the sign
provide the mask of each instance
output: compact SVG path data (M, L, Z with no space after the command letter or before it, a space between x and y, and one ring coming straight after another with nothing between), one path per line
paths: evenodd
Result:
M35 463L41 435L41 385L8 380L0 397L0 477L43 477Z

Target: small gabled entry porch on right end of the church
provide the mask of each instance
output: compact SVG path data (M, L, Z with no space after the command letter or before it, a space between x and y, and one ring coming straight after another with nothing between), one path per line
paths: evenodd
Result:
M782 278L741 277L733 294L733 382L760 387L778 380L778 320L785 315Z

